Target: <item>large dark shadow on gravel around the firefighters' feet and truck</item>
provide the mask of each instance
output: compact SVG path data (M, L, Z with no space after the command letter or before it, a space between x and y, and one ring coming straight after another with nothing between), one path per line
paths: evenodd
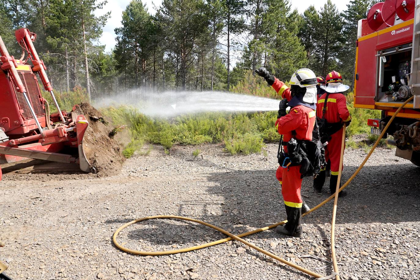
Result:
M341 183L357 169L346 166ZM401 170L407 177L401 177ZM339 199L337 223L412 222L420 221L420 182L416 180L420 168L411 164L365 166L346 188L348 196ZM213 195L224 197L222 217L205 217L233 224L249 224L262 227L267 222L278 222L286 218L283 197L275 170L231 171L213 173L208 181L220 186L208 188ZM312 179L304 178L302 198L310 207L330 196L329 178L322 194L312 191ZM407 211L407 206L411 211ZM332 202L303 219L305 223L331 222Z

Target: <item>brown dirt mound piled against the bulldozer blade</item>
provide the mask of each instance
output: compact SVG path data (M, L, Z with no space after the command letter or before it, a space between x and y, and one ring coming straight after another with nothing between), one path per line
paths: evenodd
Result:
M83 149L87 160L96 167L98 175L115 174L120 170L125 158L121 153L121 145L109 136L113 127L89 103L81 103L77 107L89 121L89 127L83 138Z

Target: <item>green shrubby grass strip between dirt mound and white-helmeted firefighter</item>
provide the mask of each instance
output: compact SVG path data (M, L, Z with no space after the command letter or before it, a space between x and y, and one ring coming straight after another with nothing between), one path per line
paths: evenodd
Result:
M173 145L225 143L231 154L261 152L264 143L278 141L274 123L277 112L200 113L169 121L149 118L128 106L109 107L102 113L118 126L128 124L131 134L127 154L144 143L160 144L169 153ZM139 144L135 144L139 143Z

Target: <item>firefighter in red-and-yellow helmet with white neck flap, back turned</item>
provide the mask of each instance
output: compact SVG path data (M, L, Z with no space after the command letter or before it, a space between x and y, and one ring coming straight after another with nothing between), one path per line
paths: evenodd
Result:
M323 89L325 93L318 99L317 116L318 118L325 118L328 123L327 127L330 130L328 132L329 134L331 133L331 139L325 146L325 160L331 164L330 193L334 194L339 175L343 123L346 123L348 126L351 121L346 105L346 97L343 94L349 89L349 86L343 84L343 78L339 72L332 71L325 78ZM326 102L325 99L327 99ZM324 104L326 107L325 115L323 114ZM314 191L321 192L324 183L325 170L321 171L317 178L314 179ZM346 191L341 191L339 196L346 196Z

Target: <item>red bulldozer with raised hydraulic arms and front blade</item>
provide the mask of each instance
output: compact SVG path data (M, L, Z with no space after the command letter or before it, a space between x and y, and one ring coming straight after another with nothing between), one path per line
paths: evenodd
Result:
M37 34L21 28L15 36L22 47L18 60L9 55L0 37L0 164L37 159L75 163L84 172L96 173L83 150L87 118L77 105L71 112L60 110L47 68L33 44ZM56 113L50 114L37 76L50 93Z

